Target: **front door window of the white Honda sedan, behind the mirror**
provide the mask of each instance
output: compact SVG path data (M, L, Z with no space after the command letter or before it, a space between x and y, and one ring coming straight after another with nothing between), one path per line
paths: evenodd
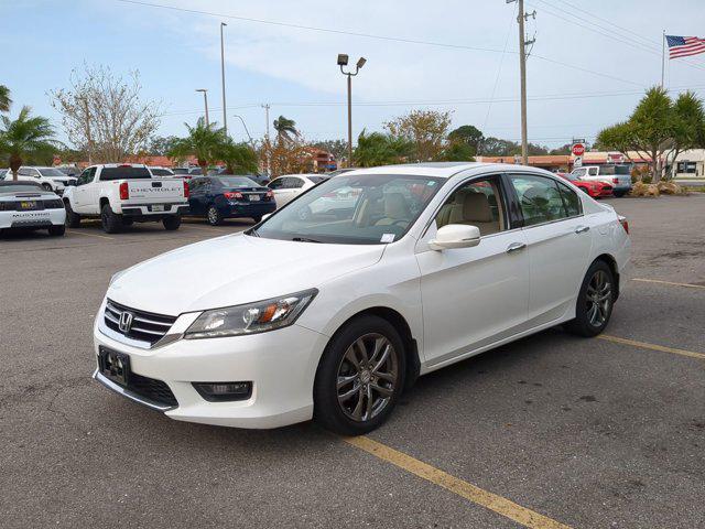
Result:
M436 215L436 227L448 224L477 226L482 236L507 229L498 179L476 180L454 191Z

